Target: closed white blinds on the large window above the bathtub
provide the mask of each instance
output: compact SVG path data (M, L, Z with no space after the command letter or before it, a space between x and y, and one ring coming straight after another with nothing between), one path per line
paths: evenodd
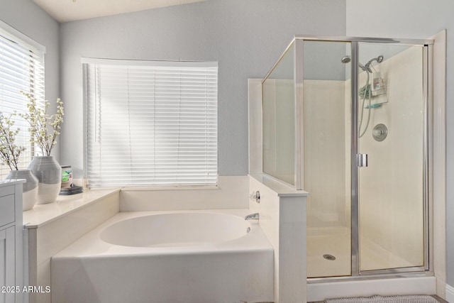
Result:
M90 187L216 184L217 62L82 62Z

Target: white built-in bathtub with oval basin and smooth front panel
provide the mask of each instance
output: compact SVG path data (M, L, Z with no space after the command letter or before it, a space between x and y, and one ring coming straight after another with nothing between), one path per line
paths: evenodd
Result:
M52 257L52 302L270 302L273 248L247 214L119 213Z

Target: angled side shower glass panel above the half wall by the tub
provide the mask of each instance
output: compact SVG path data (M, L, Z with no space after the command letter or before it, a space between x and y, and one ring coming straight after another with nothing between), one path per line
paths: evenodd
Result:
M294 44L262 82L263 172L294 185L295 85Z

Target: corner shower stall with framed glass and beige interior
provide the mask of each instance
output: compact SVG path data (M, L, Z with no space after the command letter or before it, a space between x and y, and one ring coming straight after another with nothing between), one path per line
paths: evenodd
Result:
M431 270L432 45L297 36L262 80L263 173L310 194L309 283Z

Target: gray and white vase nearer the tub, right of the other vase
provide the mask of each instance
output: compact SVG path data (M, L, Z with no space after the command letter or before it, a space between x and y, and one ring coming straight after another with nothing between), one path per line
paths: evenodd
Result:
M62 167L54 156L33 157L28 169L38 178L38 202L36 204L55 202L62 184Z

